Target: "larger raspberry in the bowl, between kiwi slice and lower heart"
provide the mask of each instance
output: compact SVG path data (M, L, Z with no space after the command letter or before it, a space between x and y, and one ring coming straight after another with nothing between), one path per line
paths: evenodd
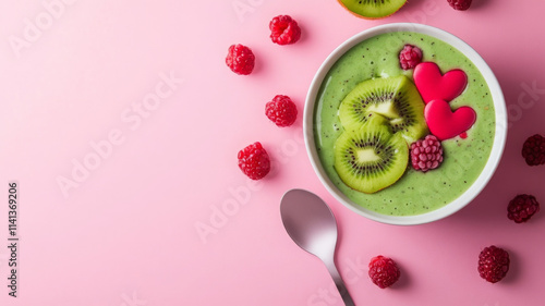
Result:
M441 162L443 147L437 137L427 135L424 139L412 143L411 163L414 170L426 172L439 167Z

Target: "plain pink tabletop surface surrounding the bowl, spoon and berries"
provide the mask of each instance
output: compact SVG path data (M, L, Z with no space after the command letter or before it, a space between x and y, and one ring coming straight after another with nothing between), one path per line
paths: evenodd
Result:
M49 9L55 17L41 0L2 1L0 304L342 305L323 264L280 221L282 194L301 187L338 219L337 262L356 305L543 305L544 212L514 224L506 206L518 193L545 205L545 166L530 168L520 156L528 136L545 133L545 2L473 2L458 12L446 0L411 0L391 17L365 21L335 0L66 0ZM270 41L268 22L278 14L298 20L298 44ZM278 128L264 115L277 94L291 96L302 114L329 52L393 22L437 26L469 42L497 74L509 110L491 183L458 213L425 225L380 224L341 206L314 174L302 118ZM235 42L257 58L250 76L225 65ZM175 83L165 87L161 74ZM164 98L149 100L156 90ZM257 185L237 166L238 150L256 140L275 160ZM102 145L104 157L90 143ZM94 169L75 171L80 182L63 195L58 180L75 180L74 162ZM11 181L21 199L17 298L7 287ZM512 260L496 284L476 271L491 244ZM379 254L402 269L387 290L366 276Z

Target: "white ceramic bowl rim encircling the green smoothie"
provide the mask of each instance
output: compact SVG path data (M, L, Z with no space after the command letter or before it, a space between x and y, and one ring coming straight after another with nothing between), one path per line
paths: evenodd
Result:
M317 155L316 145L314 143L313 124L314 124L315 101L317 94L319 91L319 87L324 81L324 77L329 72L330 68L342 54L344 54L349 49L351 49L359 42L366 40L373 36L391 32L414 32L414 33L425 34L435 37L437 39L440 39L460 50L475 64L475 66L479 69L484 79L486 81L492 94L496 111L496 131L495 131L496 133L494 136L494 143L491 156L488 157L488 161L486 162L483 172L481 172L475 182L453 201L447 204L446 206L439 209L416 216L386 216L375 212L373 210L365 209L362 206L353 203L341 191L339 191L335 186L335 184L329 180L328 175L324 171L324 168ZM479 193L486 186L486 184L491 180L492 175L494 174L494 171L496 170L499 163L501 154L504 152L505 142L507 137L507 112L506 112L504 95L501 93L501 88L499 87L499 84L494 73L488 68L483 58L481 58L481 56L479 56L479 53L475 50L473 50L468 44L465 44L460 38L445 30L438 29L436 27L422 24L414 24L414 23L396 23L396 24L376 26L354 35L353 37L344 41L342 45L340 45L337 49L335 49L329 54L329 57L327 57L327 59L324 61L322 66L318 69L316 75L314 76L314 79L312 81L311 87L306 96L303 117L304 117L303 130L305 134L305 145L306 145L306 150L308 152L308 157L311 159L311 163L315 172L317 173L319 180L326 186L329 193L331 193L331 195L337 200L342 203L351 210L360 213L361 216L388 224L412 225L412 224L427 223L443 219L463 208L471 200L473 200L475 196L479 195Z

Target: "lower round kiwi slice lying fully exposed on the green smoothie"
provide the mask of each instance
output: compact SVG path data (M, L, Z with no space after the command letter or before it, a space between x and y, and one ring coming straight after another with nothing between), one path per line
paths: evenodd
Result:
M371 113L362 126L344 130L335 143L335 170L352 189L376 193L405 172L409 147L386 118Z

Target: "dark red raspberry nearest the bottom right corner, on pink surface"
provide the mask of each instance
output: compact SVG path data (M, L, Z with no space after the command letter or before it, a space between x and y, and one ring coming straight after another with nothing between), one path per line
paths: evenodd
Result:
M479 255L479 274L491 283L500 281L509 271L509 253L491 245Z

